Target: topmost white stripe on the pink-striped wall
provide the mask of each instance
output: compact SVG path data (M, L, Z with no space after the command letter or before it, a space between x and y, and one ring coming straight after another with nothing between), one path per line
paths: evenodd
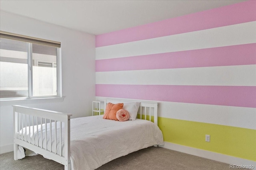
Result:
M96 60L256 43L256 21L96 48Z

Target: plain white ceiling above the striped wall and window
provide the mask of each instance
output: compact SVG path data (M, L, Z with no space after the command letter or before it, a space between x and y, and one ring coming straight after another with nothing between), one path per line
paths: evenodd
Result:
M244 0L0 0L0 10L99 35Z

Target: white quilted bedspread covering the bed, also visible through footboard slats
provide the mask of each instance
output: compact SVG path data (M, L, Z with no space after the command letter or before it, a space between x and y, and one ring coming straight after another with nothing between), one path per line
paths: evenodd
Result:
M164 145L163 135L158 126L146 120L114 121L103 119L103 115L80 117L70 120L70 162L73 170L93 170L111 160L144 149L153 145ZM57 134L58 133L57 123ZM63 126L62 126L63 128ZM36 129L34 129L36 131ZM47 131L50 131L49 123ZM25 131L23 131L25 135ZM39 145L41 146L41 130L38 129ZM43 127L43 146L45 128ZM54 123L52 123L54 134ZM47 141L50 140L47 134ZM27 129L27 137L29 131ZM31 137L32 127L31 127ZM37 133L35 140L37 143ZM59 141L57 140L57 152L59 153ZM48 149L50 142L47 143ZM54 150L54 136L52 137L52 150ZM64 135L62 135L62 148L64 147ZM63 149L64 150L64 149ZM64 152L62 153L64 154Z

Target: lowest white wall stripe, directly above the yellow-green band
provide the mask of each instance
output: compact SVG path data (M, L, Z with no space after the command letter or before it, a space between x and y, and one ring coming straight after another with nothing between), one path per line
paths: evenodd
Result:
M104 101L105 99L105 97L96 96L96 100ZM158 117L256 130L256 108L162 101L154 102L158 102L159 105Z

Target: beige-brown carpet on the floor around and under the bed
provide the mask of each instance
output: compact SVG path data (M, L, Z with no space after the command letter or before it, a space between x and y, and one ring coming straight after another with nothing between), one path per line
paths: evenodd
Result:
M13 160L13 152L0 155L0 170L64 170L43 156ZM161 147L149 147L117 158L97 170L230 170L229 164L192 156Z

